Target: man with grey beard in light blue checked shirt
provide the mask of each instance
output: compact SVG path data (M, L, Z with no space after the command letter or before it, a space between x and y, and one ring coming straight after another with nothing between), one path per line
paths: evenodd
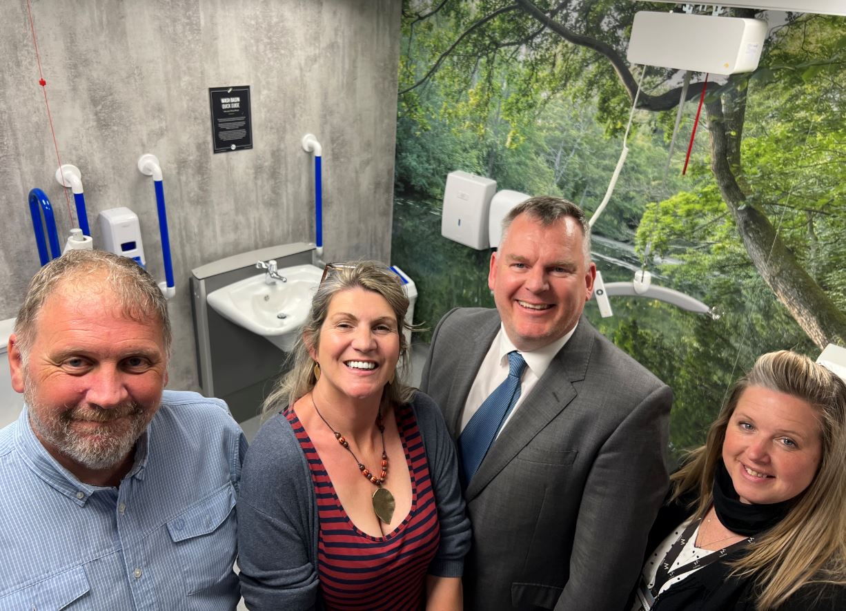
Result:
M233 609L246 441L164 390L171 328L135 261L72 250L30 282L0 431L0 609Z

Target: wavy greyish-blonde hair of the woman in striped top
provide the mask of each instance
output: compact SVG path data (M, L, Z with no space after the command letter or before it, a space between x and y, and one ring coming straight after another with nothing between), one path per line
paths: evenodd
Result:
M409 366L409 345L404 329L412 331L418 328L405 322L405 313L409 309L409 298L403 289L399 276L377 261L358 261L336 263L327 266L327 276L317 287L311 300L309 316L305 320L303 331L288 355L291 369L279 380L272 393L265 399L262 413L277 411L314 388L317 379L314 374L315 361L311 359L310 349L320 344L320 333L326 321L329 303L332 297L344 290L365 289L382 295L397 317L399 333L399 361L392 383L386 384L382 399L393 404L409 403L414 398L415 388L404 383L405 372Z

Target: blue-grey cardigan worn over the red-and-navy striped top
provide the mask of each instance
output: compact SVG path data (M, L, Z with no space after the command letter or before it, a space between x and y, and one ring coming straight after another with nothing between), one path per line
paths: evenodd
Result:
M440 520L427 573L460 577L470 549L458 463L441 411L417 392L411 402ZM250 609L320 608L317 501L309 465L285 416L267 421L247 451L238 496L241 594Z

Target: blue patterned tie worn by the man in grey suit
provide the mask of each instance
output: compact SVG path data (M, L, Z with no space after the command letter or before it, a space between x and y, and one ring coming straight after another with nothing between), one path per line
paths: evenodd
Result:
M508 353L508 377L488 395L461 432L459 448L465 486L470 484L470 479L478 471L487 450L497 437L497 431L517 404L520 398L520 376L525 366L526 361L517 350Z

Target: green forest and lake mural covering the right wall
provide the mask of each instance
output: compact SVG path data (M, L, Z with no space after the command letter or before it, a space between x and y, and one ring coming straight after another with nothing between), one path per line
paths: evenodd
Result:
M643 69L625 59L634 13L670 6L405 0L393 261L417 284L415 322L431 330L454 306L493 305L490 252L440 235L449 172L596 210ZM613 317L600 317L593 300L585 310L672 386L677 459L702 442L729 384L756 356L789 348L816 358L846 341L846 18L728 14L767 19L758 68L707 83L690 75L670 157L684 72L647 67L629 156L594 227L606 282L646 269L719 314L620 297Z

